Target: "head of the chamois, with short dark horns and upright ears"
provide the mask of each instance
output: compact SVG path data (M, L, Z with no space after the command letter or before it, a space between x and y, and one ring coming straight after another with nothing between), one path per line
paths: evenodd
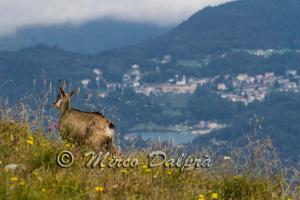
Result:
M69 110L71 107L71 97L74 95L74 90L69 94L64 91L62 87L59 87L59 94L57 95L56 101L53 103L54 108L64 112Z

